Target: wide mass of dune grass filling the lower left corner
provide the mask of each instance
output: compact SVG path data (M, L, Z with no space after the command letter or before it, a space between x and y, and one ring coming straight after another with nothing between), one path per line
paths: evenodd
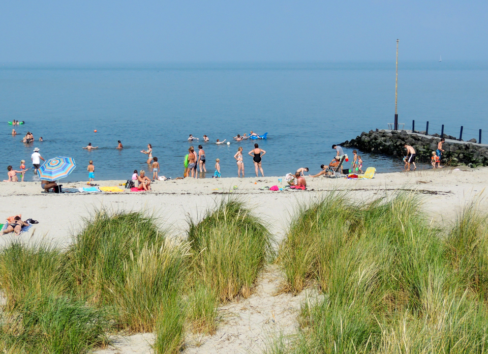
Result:
M124 329L156 331L157 352L177 352L189 249L170 242L153 216L104 210L65 252L14 243L0 254L9 324L0 341L11 352L84 353Z

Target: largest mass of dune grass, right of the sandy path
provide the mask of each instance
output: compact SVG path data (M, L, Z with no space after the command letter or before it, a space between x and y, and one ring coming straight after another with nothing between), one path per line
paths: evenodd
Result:
M277 261L285 289L315 283L325 299L303 304L284 352L486 352L485 220L465 210L444 241L413 194L358 205L331 193L303 206Z

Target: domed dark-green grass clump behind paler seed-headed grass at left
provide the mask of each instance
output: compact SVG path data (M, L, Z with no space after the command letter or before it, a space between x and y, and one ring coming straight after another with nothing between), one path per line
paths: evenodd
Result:
M112 305L116 287L126 276L126 263L146 245L159 248L165 234L153 216L140 212L98 211L74 238L68 250L70 272L82 296L97 305Z

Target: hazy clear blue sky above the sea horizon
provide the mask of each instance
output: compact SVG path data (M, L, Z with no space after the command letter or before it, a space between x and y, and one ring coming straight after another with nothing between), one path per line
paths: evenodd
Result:
M0 0L0 62L487 60L488 1Z

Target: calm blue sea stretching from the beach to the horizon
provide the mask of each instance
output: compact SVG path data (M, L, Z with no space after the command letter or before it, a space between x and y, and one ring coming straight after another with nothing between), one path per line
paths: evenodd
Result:
M488 62L399 63L398 114L405 129L478 138L488 142ZM235 176L233 158L257 142L266 151L265 175L284 175L299 167L318 173L335 155L332 144L362 131L387 129L395 110L395 66L391 63L243 63L144 65L0 64L0 179L20 160L32 166L35 147L45 158L73 157L77 167L63 182L87 181L94 161L96 180L130 179L148 170L148 143L161 165L160 175L184 170L190 145L202 144L211 178L219 158L223 177ZM12 127L7 122L25 121ZM12 128L18 132L12 136ZM94 132L97 130L97 133ZM233 136L268 133L266 140L235 142ZM36 141L20 142L27 131ZM189 134L200 138L189 143ZM203 142L206 134L210 142ZM44 141L37 141L42 136ZM230 145L216 145L216 139ZM116 150L117 140L124 149ZM91 142L99 149L82 149ZM352 150L345 149L349 157ZM363 170L400 170L402 161L360 152ZM349 167L347 164L345 167ZM149 174L152 176L152 173ZM33 170L26 181L35 181Z

